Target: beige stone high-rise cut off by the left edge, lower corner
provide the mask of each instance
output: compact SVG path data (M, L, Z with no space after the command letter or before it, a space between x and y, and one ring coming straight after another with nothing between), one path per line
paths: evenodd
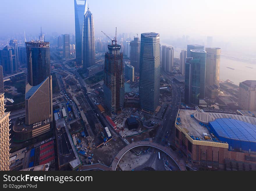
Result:
M10 112L5 112L4 108L4 93L0 93L0 170L9 170L9 156L10 156L10 139L9 139L9 116Z

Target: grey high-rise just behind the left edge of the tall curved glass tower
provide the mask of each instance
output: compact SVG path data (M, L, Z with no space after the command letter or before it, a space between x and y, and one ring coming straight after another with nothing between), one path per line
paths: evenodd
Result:
M134 67L135 72L139 72L140 68L141 41L138 37L130 42L130 63Z

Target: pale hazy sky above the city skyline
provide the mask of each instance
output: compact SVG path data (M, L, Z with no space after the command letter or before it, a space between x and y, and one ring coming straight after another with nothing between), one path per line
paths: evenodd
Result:
M158 32L162 38L214 36L255 42L256 1L232 0L89 0L95 34L100 31ZM74 33L73 0L1 0L0 36L14 31Z

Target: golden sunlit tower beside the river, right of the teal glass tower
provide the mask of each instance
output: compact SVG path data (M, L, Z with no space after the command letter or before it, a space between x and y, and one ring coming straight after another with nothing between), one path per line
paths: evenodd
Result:
M211 99L219 94L219 72L221 49L205 48L206 53L206 75L205 75L205 93Z

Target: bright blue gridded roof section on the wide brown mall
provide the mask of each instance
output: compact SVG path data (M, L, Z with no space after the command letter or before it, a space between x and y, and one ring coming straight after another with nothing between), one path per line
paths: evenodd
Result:
M219 137L240 140L246 142L256 142L256 126L237 119L220 118L209 125L214 129Z

